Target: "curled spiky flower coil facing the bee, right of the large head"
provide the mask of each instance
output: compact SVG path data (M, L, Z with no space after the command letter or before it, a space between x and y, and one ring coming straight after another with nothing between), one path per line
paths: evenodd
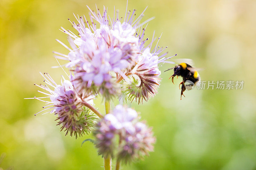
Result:
M161 81L161 71L158 69L158 63L173 63L166 60L174 56L165 58L164 56L167 53L158 56L167 48L157 46L161 36L158 38L157 44L152 51L151 47L155 41L154 35L152 41L145 47L148 38L143 40L145 29L143 28L142 30L142 33L138 35L139 44L137 46L141 55L138 56L136 65L130 71L130 81L122 81L123 99L128 99L131 102L135 99L136 102L138 101L138 104L143 103L143 100L148 101L149 98L155 96Z

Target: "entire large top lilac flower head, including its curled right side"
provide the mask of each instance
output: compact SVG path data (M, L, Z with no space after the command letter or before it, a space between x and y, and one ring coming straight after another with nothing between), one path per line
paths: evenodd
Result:
M71 48L57 41L70 52L55 52L60 55L57 58L69 61L66 67L74 71L73 81L77 90L85 94L101 94L104 99L110 100L120 96L120 89L123 89L122 94L129 95L130 101L134 98L138 99L138 103L143 99L147 101L155 95L161 80L158 63L170 58L164 57L167 53L158 56L165 49L158 46L160 38L153 49L154 35L149 43L148 38L144 39L143 26L152 18L140 24L144 11L135 19L136 10L126 11L124 18L119 18L118 12L116 16L114 13L114 18L108 18L105 7L102 14L99 9L96 12L88 9L89 20L85 16L75 16L76 23L70 21L78 36L62 28L70 36ZM132 74L140 78L140 85L132 86L134 82L127 77ZM122 79L124 81L119 83Z

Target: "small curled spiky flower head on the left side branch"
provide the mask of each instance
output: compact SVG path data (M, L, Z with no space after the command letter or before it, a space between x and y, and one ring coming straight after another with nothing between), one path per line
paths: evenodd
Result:
M61 82L58 85L48 73L41 75L44 77L45 85L36 86L42 88L46 92L38 91L47 95L46 97L34 97L46 103L42 111L49 110L46 113L54 113L58 115L55 121L59 121L57 125L62 125L61 130L66 131L66 135L69 133L70 136L82 136L84 133L90 133L96 117L89 112L87 107L84 107L81 100L89 101L92 100L92 96L78 97L74 90L74 86L69 80ZM44 98L50 98L50 101L43 100ZM41 113L42 111L38 112ZM37 114L38 114L37 113ZM36 114L35 114L36 115Z

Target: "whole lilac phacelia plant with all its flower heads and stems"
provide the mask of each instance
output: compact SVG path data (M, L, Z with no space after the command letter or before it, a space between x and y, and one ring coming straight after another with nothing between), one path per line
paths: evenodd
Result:
M105 169L111 169L111 157L117 160L118 169L120 162L148 155L156 139L135 110L117 105L108 113L110 101L123 98L140 104L155 96L161 81L158 64L173 63L167 61L172 56L165 57L167 53L162 52L167 47L158 46L162 34L155 38L154 32L151 40L145 37L148 22L153 19L141 22L146 9L135 17L136 10L127 12L126 7L124 17L114 12L113 18L105 7L102 14L97 6L96 11L88 9L89 18L75 15L75 22L68 19L76 33L61 27L68 34L69 45L57 40L69 51L54 52L58 63L58 59L67 61L68 80L62 77L57 84L48 73L41 73L44 85L35 85L46 96L28 99L43 101L45 106L38 113L54 113L60 131L66 131L66 135L77 138L93 131L93 143L104 157ZM91 104L97 96L105 101L105 116Z

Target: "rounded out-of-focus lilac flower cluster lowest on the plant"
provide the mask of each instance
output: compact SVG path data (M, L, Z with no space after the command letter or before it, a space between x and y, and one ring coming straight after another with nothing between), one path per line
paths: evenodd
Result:
M151 128L139 122L135 110L122 105L105 115L96 125L94 135L99 154L116 157L124 163L148 155L154 149L155 137Z

